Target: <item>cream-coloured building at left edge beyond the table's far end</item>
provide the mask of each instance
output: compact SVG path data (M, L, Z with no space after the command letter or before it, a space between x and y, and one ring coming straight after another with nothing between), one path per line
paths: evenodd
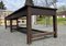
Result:
M12 12L13 11L9 11L9 10L0 10L0 25L4 25L4 18L11 14Z

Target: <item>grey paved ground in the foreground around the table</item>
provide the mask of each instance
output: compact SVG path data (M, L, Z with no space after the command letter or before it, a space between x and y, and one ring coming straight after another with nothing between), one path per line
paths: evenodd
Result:
M26 45L25 34L6 30L0 26L0 46L66 46L66 26L58 26L58 37L50 37L35 41L31 45Z

